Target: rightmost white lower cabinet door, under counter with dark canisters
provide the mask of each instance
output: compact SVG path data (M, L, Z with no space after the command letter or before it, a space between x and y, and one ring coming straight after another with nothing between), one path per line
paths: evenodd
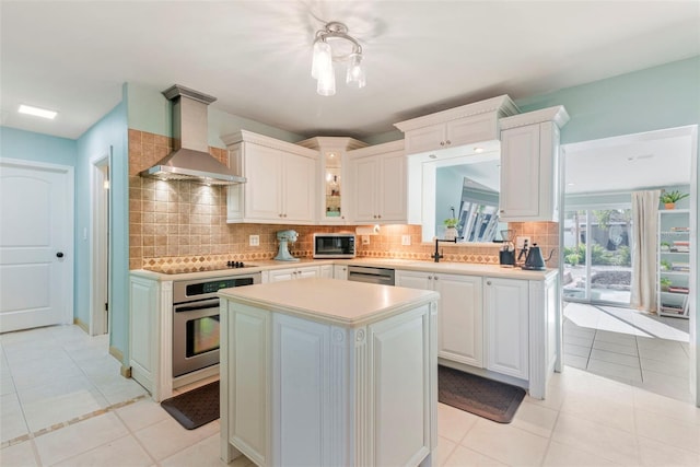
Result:
M485 280L487 369L527 380L528 282L517 279Z

